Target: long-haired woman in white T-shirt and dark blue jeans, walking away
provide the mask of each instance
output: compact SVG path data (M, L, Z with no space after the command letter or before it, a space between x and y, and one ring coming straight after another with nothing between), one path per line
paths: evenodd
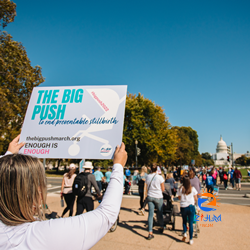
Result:
M193 221L195 215L194 204L197 201L197 191L190 184L190 179L188 176L183 176L182 186L177 192L178 198L181 201L181 215L183 222L183 238L182 241L185 242L187 238L187 219L189 221L189 244L193 244Z

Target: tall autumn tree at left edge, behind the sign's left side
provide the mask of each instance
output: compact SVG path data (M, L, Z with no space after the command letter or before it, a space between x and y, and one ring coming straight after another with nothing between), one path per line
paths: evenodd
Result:
M14 20L15 4L0 2L1 25ZM12 13L12 14L11 14ZM12 36L0 31L0 154L20 133L33 87L44 82L41 67L32 67L26 50Z

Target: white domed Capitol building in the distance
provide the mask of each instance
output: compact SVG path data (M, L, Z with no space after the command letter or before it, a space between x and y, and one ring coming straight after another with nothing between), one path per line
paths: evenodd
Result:
M242 155L245 155L246 157L250 157L250 153L242 153L242 154L238 154L238 153L233 153L233 160L235 162L235 160L239 157L241 157ZM215 166L224 166L224 165L230 165L229 162L227 161L227 144L225 141L223 141L222 136L220 137L219 142L217 143L217 147L216 147L216 153L212 154L212 159L214 160L214 165ZM230 156L230 162L232 162L231 156Z

